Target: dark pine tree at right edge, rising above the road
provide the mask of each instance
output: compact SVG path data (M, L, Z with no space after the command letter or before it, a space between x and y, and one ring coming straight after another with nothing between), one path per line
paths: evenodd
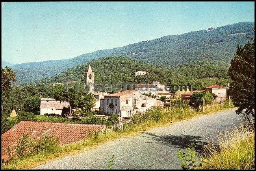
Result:
M254 42L245 46L237 45L237 51L228 74L232 79L230 95L236 107L236 113L248 119L254 117Z

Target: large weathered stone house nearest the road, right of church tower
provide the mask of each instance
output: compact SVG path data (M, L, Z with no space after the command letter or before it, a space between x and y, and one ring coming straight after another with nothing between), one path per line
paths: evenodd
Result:
M163 107L163 102L145 96L140 91L126 90L104 96L100 99L100 110L118 114L121 118L130 118L138 112L145 112L153 106Z

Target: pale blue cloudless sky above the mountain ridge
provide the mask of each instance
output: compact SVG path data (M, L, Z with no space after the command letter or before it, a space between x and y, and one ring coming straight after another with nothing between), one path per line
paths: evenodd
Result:
M254 2L7 2L2 60L67 59L245 21L254 21Z

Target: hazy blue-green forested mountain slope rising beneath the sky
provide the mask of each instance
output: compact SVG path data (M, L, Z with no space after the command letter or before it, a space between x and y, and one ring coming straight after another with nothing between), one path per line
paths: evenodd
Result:
M165 66L211 60L229 63L236 52L236 45L245 44L249 40L247 37L254 37L253 28L254 22L240 22L211 31L169 35L121 48L86 53L72 59L23 63L12 68L17 71L18 82L22 83L52 77L69 67L86 64L92 59L109 55L123 55Z

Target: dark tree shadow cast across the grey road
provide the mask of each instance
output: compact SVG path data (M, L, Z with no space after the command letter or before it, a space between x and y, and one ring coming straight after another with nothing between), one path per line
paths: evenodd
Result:
M180 135L169 134L169 135L160 136L160 135L156 135L149 132L142 132L142 133L149 135L149 136L141 135L143 137L152 138L157 142L167 144L167 145L172 145L175 148L186 149L188 145L191 142L193 142L195 150L200 154L204 152L204 149L202 146L207 144L204 140L201 139L202 136L191 136L191 135L184 135L184 134L180 134Z

